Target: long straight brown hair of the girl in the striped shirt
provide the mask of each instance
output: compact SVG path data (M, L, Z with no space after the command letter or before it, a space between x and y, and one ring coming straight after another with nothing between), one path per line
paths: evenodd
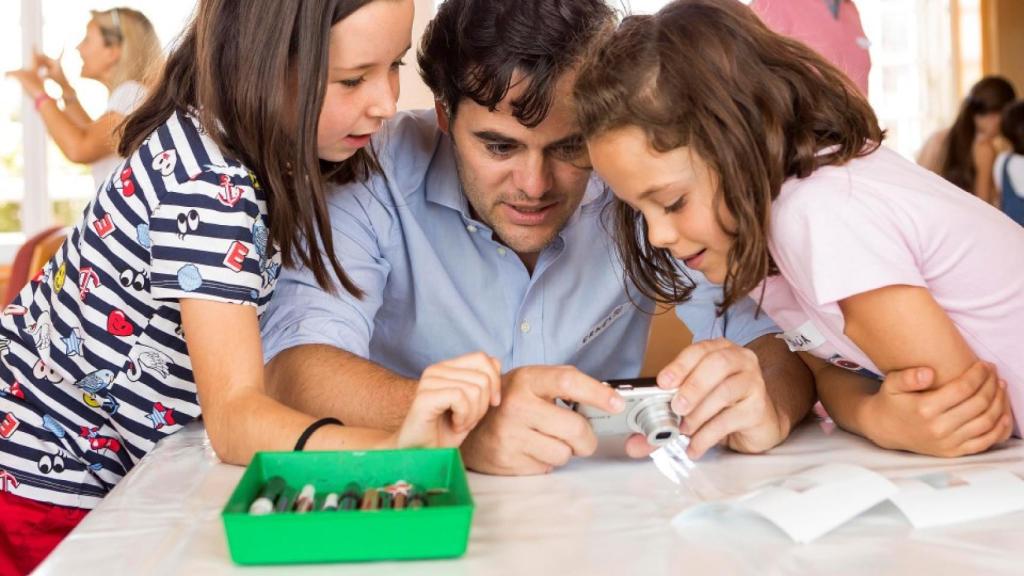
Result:
M118 149L128 157L176 111L197 114L217 146L263 186L282 262L310 269L331 292L333 272L357 297L362 292L334 253L326 189L366 178L379 166L373 151L364 150L344 162L321 161L316 126L331 27L372 1L202 0L151 96L128 118Z

